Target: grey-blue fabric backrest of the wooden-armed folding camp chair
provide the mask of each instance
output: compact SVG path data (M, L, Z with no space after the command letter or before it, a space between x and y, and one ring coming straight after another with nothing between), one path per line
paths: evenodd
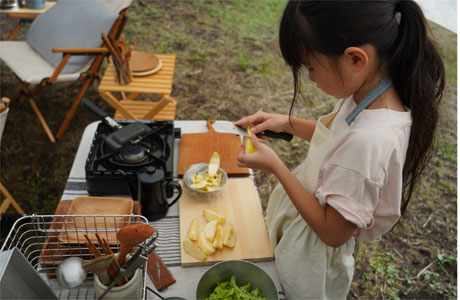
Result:
M52 48L96 48L102 44L101 33L108 33L119 19L128 0L59 0L32 22L26 41L53 67L62 59ZM62 74L74 73L93 56L72 56Z

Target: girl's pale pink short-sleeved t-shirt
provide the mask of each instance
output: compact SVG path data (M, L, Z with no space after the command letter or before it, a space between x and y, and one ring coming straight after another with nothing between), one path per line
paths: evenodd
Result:
M366 109L348 126L345 118L355 107L352 97L345 99L330 125L333 145L320 168L315 196L356 224L358 240L370 242L401 216L412 119L409 111Z

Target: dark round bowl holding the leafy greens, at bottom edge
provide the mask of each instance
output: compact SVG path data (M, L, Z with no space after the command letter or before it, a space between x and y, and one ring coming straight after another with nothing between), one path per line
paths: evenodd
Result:
M218 282L228 281L233 275L238 286L251 282L251 290L258 288L265 298L278 299L278 291L270 276L262 268L246 260L226 260L210 267L198 283L196 298L206 299Z

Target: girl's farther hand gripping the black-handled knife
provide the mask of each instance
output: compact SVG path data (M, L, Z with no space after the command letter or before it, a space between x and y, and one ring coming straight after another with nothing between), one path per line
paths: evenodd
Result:
M274 132L286 130L286 125L289 123L287 115L270 114L263 111L256 112L253 115L241 118L235 122L237 126L253 125L251 128L253 133L259 133L270 129Z

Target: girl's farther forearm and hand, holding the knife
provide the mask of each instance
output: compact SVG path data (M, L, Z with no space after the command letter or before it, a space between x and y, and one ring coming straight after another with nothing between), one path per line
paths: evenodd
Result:
M291 122L289 122L289 116L287 115L259 111L253 115L241 118L235 122L235 125L254 125L252 127L254 133L259 133L267 129L275 132L285 131L304 140L311 141L316 121L291 118Z

